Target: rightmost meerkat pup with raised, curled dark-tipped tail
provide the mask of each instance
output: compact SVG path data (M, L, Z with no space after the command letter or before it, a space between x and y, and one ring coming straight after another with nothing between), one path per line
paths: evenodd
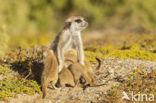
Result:
M96 60L98 61L99 65L95 70L99 70L99 68L101 67L101 61L98 58L96 58ZM94 74L88 69L88 67L82 65L81 63L75 62L71 64L68 69L73 74L76 86L79 85L81 77L84 78L86 82L89 83L91 86L95 86Z

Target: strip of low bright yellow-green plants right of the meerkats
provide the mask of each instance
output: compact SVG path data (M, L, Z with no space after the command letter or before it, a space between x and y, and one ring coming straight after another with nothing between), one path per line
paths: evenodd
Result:
M122 58L122 59L141 59L156 61L156 53L143 49L139 44L134 44L129 49L121 50L115 49L111 46L108 47L93 47L85 48L85 55L90 61L95 61L95 57L99 56L101 58Z

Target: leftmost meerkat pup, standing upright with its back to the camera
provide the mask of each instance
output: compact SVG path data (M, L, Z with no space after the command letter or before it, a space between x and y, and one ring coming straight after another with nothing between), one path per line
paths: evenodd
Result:
M41 76L41 86L42 86L42 92L43 92L42 98L45 98L46 89L50 82L53 88L56 89L55 84L57 80L58 80L57 59L53 51L50 49L47 49L44 54L44 69L43 69L43 73Z

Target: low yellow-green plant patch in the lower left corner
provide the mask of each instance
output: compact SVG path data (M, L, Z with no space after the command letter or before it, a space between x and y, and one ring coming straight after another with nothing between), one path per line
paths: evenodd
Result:
M8 97L13 97L18 94L34 94L41 93L40 87L36 81L4 78L0 80L0 100L6 100Z

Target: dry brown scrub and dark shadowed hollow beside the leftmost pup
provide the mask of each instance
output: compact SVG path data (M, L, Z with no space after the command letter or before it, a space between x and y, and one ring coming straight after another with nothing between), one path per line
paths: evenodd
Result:
M2 61L11 65L11 69L17 71L20 77L37 80L40 83L40 75L43 69L44 47L16 48L9 51Z

